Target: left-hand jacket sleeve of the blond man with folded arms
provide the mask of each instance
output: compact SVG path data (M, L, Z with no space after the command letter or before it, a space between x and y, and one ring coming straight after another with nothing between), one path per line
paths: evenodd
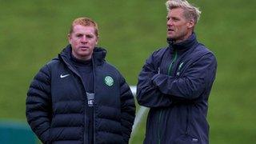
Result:
M146 107L167 107L172 103L170 98L164 96L151 81L151 78L158 74L158 66L154 66L154 54L146 60L138 75L137 100L139 105Z

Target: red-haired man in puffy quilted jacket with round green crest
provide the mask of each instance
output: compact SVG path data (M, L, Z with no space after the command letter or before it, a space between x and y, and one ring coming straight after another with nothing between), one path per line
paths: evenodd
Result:
M129 143L134 97L97 47L98 26L77 18L70 45L39 70L26 98L26 118L43 143Z

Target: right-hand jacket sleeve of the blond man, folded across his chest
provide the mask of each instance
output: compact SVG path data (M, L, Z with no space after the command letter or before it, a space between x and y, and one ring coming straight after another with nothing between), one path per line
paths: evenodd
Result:
M193 100L212 85L216 68L214 54L209 53L191 64L182 78L155 74L151 80L162 94L168 94L180 100Z

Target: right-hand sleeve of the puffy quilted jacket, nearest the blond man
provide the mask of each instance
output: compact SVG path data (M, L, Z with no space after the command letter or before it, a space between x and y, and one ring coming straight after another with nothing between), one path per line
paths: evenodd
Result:
M126 80L122 77L120 82L120 94L121 94L121 124L122 135L126 144L129 143L130 134L134 125L135 118L135 104L134 95L130 90L130 86L127 85Z

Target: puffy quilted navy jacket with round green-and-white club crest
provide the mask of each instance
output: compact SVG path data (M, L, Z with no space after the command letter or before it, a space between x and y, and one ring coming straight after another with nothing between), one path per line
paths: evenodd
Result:
M86 90L70 62L71 46L39 70L26 98L26 118L43 143L88 143ZM122 75L94 48L94 142L128 143L134 97Z

